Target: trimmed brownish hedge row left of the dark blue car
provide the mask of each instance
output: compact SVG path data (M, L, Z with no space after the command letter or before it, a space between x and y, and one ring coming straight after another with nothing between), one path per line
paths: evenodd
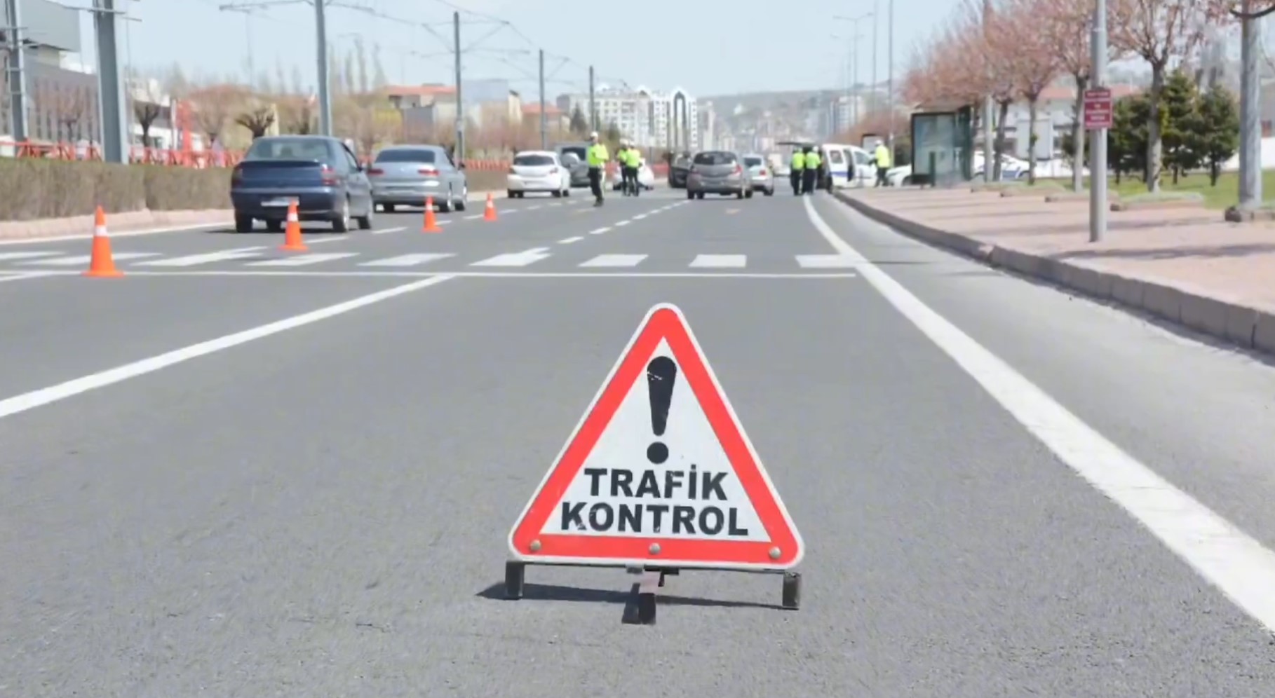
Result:
M0 158L0 220L228 209L229 169Z

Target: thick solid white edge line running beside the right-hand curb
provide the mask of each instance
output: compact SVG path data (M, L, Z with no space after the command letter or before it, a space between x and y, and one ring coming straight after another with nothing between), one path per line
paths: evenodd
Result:
M1275 630L1275 594L1271 592L1275 590L1275 552L1098 433L867 261L833 232L810 199L803 197L802 203L806 215L833 250L854 257L856 269L872 288L978 381L1028 432L1141 522L1241 610L1269 632ZM1137 592L1136 587L1128 591Z

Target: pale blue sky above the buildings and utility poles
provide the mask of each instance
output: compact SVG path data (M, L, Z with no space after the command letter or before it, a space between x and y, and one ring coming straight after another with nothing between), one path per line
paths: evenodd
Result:
M892 0L895 76L904 73L918 41L929 36L959 0ZM91 0L60 0L87 6ZM121 23L125 61L142 74L162 78L180 65L187 76L237 78L255 73L291 79L300 71L307 87L315 75L314 6L292 0L116 0L134 18ZM221 5L258 5L251 14ZM328 39L349 50L356 37L380 46L390 83L451 83L450 42L454 5L504 20L482 23L462 13L464 75L505 78L524 98L537 92L538 48L547 53L547 99L588 89L588 66L597 83L645 85L692 96L784 89L840 89L848 84L850 34L857 27L858 79L872 76L873 18L857 24L834 15L864 15L876 5L876 73L889 73L887 19L891 0L799 0L784 8L773 0L328 0ZM270 6L263 6L270 5ZM356 9L361 8L361 9ZM382 15L382 17L377 17ZM93 62L89 13L83 14L84 60ZM835 38L834 38L835 37ZM794 46L799 50L794 51ZM523 51L523 52L519 52Z

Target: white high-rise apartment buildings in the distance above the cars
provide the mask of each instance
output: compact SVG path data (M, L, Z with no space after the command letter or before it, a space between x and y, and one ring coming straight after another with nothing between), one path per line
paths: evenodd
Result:
M697 150L703 141L699 107L695 98L681 88L662 93L639 85L634 90L611 89L599 85L594 90L598 107L598 130L611 124L620 134L643 148L668 148L672 150ZM589 94L564 94L557 106L566 113L576 107L588 120ZM674 111L677 118L674 120Z

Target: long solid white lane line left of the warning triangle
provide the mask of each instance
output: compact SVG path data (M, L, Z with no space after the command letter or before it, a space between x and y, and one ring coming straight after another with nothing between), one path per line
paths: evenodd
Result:
M326 320L329 317L335 317L338 315L343 315L349 311L362 308L365 306L371 306L372 303L388 301L390 298L394 298L395 296L403 296L404 293L412 293L413 290L440 284L450 278L451 276L431 276L428 279L421 279L418 281L412 281L409 284L403 284L390 289L379 290L376 293L370 293L367 296L360 296L358 298L337 303L334 306L328 306L324 308L319 308L316 311L295 315L292 317L278 320L268 325L260 325L258 327L221 336L217 339L210 339L208 341L200 341L198 344L191 344L181 349L175 349L172 352L167 352L138 362L102 371L99 373L92 373L80 378L74 378L71 381L66 381L56 386L36 390L32 392L26 392L23 395L17 395L6 400L0 400L0 419L42 405L47 405L50 402L65 400L68 397L83 392L88 392L91 390L105 387L112 383L119 383L121 381L135 378L138 376L144 376L147 373L153 373L156 371L159 371L161 368L167 368L170 366L186 362L194 358L204 357L214 352L221 352L223 349L229 349L232 346L247 344L249 341L252 341L255 339L263 339L270 335L277 335L287 330L302 327L305 325L312 325L315 322L319 322L320 320Z

